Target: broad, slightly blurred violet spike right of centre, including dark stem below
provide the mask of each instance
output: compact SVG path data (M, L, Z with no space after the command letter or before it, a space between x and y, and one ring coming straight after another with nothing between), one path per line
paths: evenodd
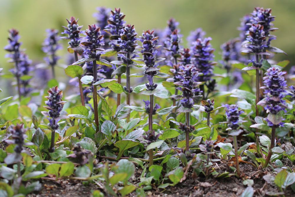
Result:
M213 76L213 66L216 64L214 60L214 48L210 44L212 38L197 39L191 47L191 54L194 57L192 63L196 67L196 70L203 73L202 76L198 77L199 82L204 82L200 86L201 91L203 91L203 99L206 100L209 93L214 90L215 80L212 80ZM208 92L205 94L204 85L207 86Z

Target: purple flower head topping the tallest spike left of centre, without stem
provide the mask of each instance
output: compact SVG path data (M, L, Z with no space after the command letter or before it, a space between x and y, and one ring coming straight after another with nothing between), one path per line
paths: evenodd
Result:
M125 15L121 12L121 9L115 8L114 11L111 11L111 16L109 17L108 25L105 26L105 31L111 34L112 41L109 45L112 46L112 49L115 51L120 51L120 48L117 46L119 44L118 39L120 35L123 33L122 28L125 25L125 21L123 20Z

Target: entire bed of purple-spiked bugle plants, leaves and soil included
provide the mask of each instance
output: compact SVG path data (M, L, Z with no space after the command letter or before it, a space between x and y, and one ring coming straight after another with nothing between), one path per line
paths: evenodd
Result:
M48 29L35 66L8 31L0 196L294 196L295 73L272 59L285 52L271 9L220 49L201 28L185 48L173 18L140 34L119 8L97 10L95 24Z

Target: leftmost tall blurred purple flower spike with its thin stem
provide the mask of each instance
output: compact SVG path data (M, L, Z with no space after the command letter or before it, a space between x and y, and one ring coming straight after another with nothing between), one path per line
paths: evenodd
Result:
M4 47L4 49L10 54L7 54L6 57L11 58L11 62L15 64L15 72L14 75L17 78L17 91L19 96L19 101L21 101L21 86L20 86L20 73L19 73L19 62L21 61L20 58L20 45L22 43L19 42L19 32L15 29L9 30L9 37L8 37L8 45Z

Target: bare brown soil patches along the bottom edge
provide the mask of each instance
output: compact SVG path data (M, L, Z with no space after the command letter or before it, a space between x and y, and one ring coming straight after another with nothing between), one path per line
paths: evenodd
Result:
M284 165L293 168L292 162L289 159L283 160ZM224 163L220 163L218 167L215 167L217 172L228 171L231 172L229 167ZM165 189L158 189L155 185L152 185L153 189L146 192L147 196L210 196L210 197L234 197L240 196L247 186L243 185L243 179L252 179L254 184L252 187L255 190L254 196L268 196L267 194L278 194L278 189L265 182L263 175L271 172L271 169L266 168L264 170L258 170L249 164L240 164L240 171L242 179L231 176L228 178L214 178L213 176L205 178L204 176L193 177L192 172L189 172L186 180L182 183L178 183L174 187L167 187ZM132 177L130 182L133 184L139 183L142 169L136 168L135 175ZM33 193L28 196L30 197L41 197L41 196L64 196L64 197L82 197L91 196L91 191L101 190L99 185L95 183L89 183L84 185L83 182L77 180L41 180L43 185L42 191L39 193ZM113 188L116 191L116 188ZM102 190L101 190L102 191ZM103 192L103 191L102 191ZM294 192L289 187L285 196L294 196ZM130 196L136 196L133 192ZM278 195L275 195L278 196Z

